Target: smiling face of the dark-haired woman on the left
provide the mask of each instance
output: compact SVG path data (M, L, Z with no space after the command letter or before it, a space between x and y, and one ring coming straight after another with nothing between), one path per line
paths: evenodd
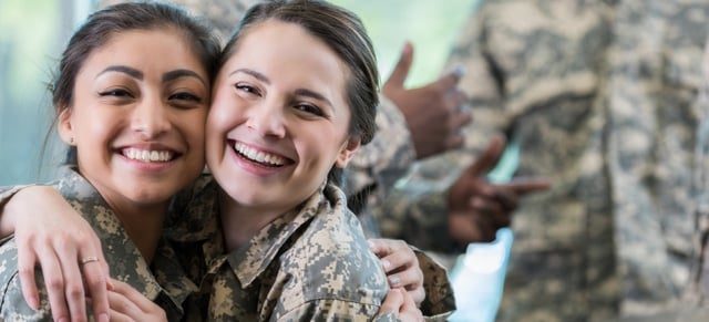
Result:
M207 72L179 32L121 32L79 71L60 135L112 206L151 206L204 167L208 103Z

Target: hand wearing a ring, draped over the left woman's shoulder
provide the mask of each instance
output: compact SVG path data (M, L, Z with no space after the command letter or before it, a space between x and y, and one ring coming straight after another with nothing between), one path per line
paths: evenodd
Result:
M50 186L23 188L8 198L0 208L0 233L14 231L19 277L28 304L40 305L34 281L39 263L55 320L85 321L88 289L94 318L107 321L109 266L91 226Z

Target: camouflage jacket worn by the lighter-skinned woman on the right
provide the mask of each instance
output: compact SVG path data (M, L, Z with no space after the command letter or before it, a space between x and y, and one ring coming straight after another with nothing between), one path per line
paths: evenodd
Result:
M333 186L224 255L218 186L204 177L168 235L205 295L208 321L371 320L387 294L379 260ZM207 303L208 302L208 303ZM196 319L196 318L195 318Z

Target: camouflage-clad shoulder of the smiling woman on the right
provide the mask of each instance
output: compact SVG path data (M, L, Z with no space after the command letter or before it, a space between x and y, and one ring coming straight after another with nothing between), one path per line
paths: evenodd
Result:
M346 207L317 214L279 260L281 272L294 278L284 293L292 291L300 303L335 299L379 305L388 290L379 260Z

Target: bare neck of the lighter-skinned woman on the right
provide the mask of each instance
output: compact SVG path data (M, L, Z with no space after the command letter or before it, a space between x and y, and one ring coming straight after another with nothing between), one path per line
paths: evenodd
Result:
M219 190L219 212L228 252L246 245L266 225L285 214L275 209L239 205L223 190Z

